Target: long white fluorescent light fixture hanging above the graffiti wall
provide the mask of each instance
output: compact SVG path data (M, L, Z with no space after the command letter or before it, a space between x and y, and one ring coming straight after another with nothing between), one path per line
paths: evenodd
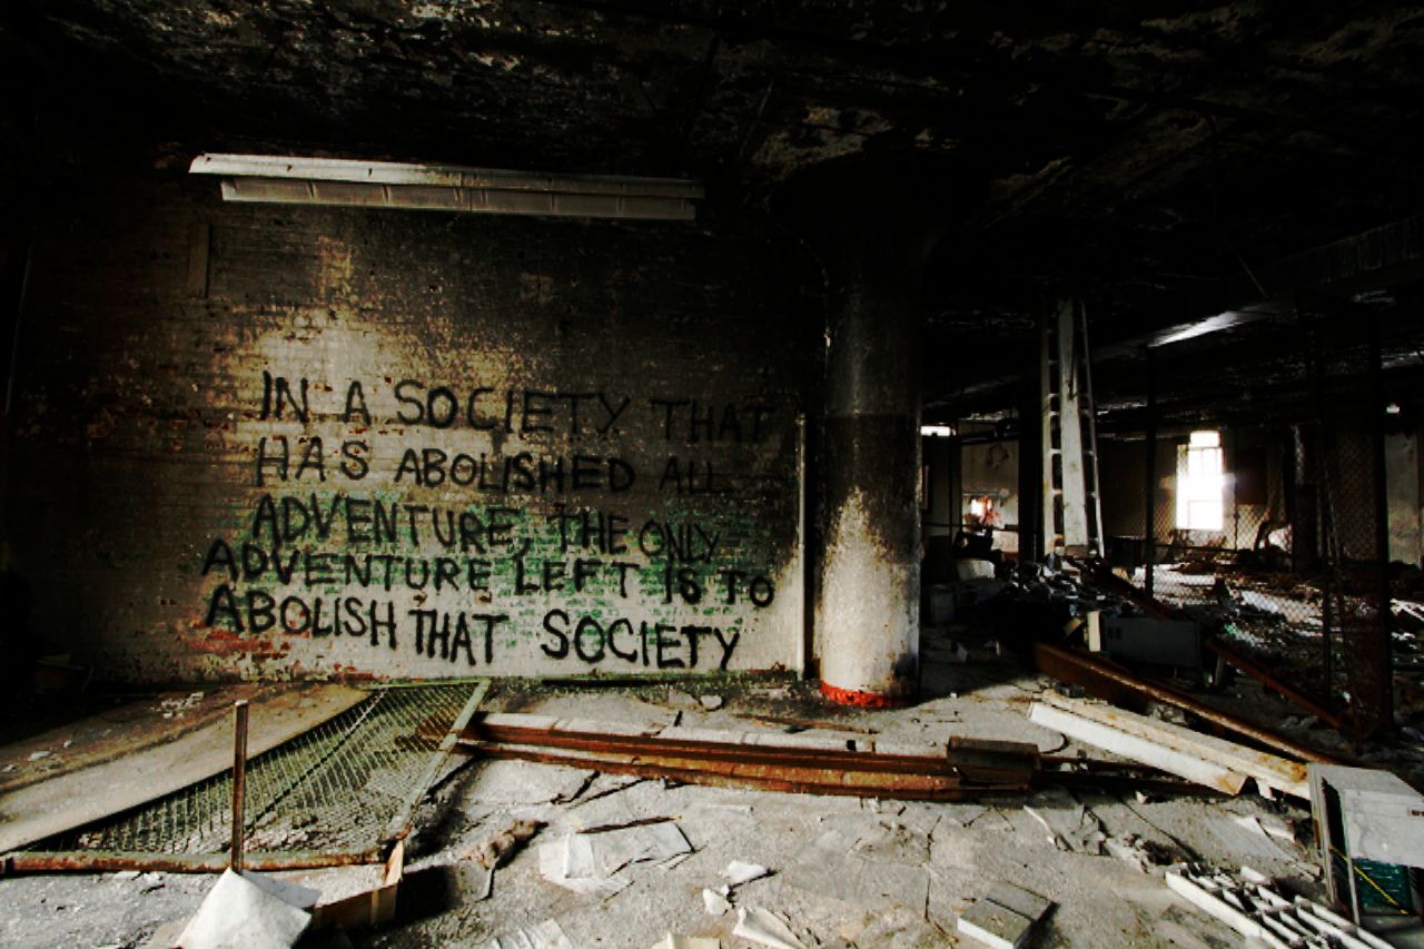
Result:
M702 185L681 178L554 175L345 158L198 155L188 171L222 178L224 201L404 208L560 218L692 221Z

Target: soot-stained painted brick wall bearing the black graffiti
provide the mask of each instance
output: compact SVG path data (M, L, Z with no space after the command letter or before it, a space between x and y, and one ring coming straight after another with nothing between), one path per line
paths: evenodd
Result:
M41 222L7 514L37 628L148 681L797 661L813 346L769 242L215 192Z

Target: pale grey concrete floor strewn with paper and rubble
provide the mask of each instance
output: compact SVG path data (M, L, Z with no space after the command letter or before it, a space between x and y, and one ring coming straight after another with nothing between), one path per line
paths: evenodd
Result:
M1031 705L1067 687L998 653L997 644L980 643L958 663L947 634L928 630L926 697L899 711L839 710L809 684L752 680L564 690L497 684L481 712L793 731L880 745L943 745L956 735L1031 742L1052 757L1108 757L1032 724ZM152 702L154 714L172 714L171 701ZM1287 708L1250 680L1219 701L1266 721ZM1317 728L1304 740L1339 751L1331 737ZM56 748L17 768L53 767L48 759L64 752ZM1371 764L1407 775L1418 764L1407 750L1366 752ZM313 932L300 945L652 946L675 933L742 948L785 939L785 930L775 935L780 921L795 939L787 945L974 946L958 921L1002 883L1052 903L1027 945L1239 945L1233 929L1166 886L1166 869L1182 864L1230 875L1249 868L1287 899L1324 893L1309 807L1279 795L1143 792L1124 782L891 801L698 787L457 754L417 811L394 921ZM312 872L285 876L315 879ZM735 882L740 878L749 879ZM0 943L167 945L161 940L198 909L214 879L152 872L0 879L7 908ZM772 929L762 942L739 935L758 921ZM150 942L155 932L159 940Z

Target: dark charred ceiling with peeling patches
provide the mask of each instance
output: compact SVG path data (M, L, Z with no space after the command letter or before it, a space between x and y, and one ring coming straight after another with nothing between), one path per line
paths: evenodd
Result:
M0 80L0 212L218 150L692 175L753 211L826 162L930 167L951 415L1054 294L1098 343L1280 308L1279 261L1424 209L1424 7L1387 3L7 0ZM1356 305L1411 315L1415 276Z

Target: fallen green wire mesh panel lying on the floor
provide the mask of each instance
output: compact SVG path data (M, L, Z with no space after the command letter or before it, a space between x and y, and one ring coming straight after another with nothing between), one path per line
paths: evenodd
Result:
M330 721L252 758L246 849L362 852L403 835L486 685L375 688ZM221 854L231 834L228 771L34 849Z

